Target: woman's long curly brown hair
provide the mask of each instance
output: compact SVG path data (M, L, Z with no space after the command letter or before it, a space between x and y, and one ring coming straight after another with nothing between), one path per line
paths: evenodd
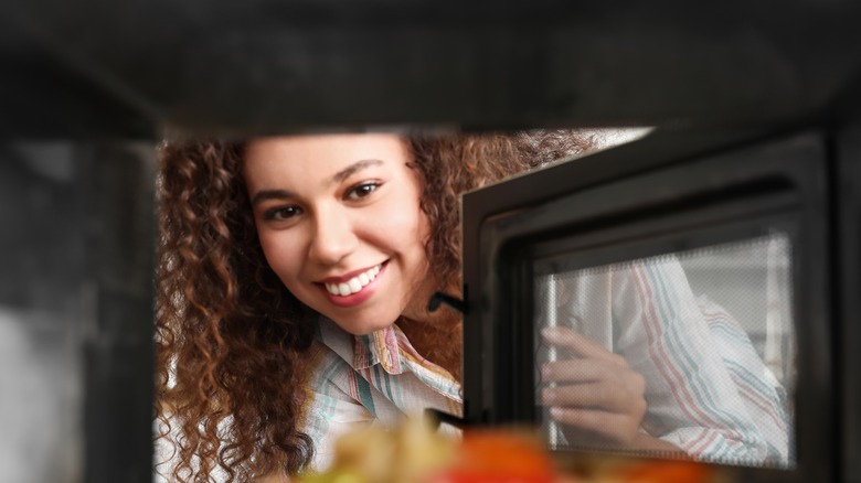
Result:
M426 254L450 291L460 286L459 195L587 151L593 139L551 131L412 136L407 144L432 227ZM160 149L156 411L159 437L173 449L170 477L180 482L211 481L216 468L231 481L296 474L313 452L299 428L304 391L296 389L307 376L313 314L263 256L244 149L214 139Z

